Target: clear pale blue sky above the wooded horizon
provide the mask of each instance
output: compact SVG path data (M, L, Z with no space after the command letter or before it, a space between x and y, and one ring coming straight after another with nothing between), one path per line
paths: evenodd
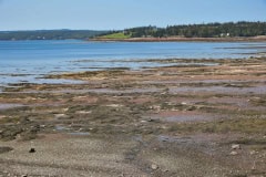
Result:
M266 21L266 0L0 0L0 31Z

